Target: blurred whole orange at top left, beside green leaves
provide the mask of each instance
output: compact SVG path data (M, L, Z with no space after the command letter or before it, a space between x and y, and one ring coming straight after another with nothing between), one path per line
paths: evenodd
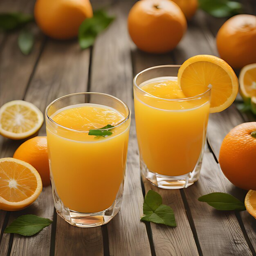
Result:
M89 0L37 0L34 16L38 27L55 39L70 39L78 34L83 20L93 16Z

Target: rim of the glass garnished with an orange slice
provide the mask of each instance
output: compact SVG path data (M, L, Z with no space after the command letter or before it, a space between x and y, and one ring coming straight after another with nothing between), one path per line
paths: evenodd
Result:
M161 97L157 97L153 94L150 94L148 92L145 92L144 90L142 90L139 85L137 85L136 83L136 80L138 78L139 75L143 74L144 72L146 71L149 71L149 70L153 70L153 69L156 69L156 68L161 68L161 67L181 67L181 65L159 65L159 66L154 66L154 67L148 67L146 68L145 70L142 70L141 72L139 72L133 79L133 86L135 88L137 88L140 92L143 92L143 93L146 93L148 96L152 97L152 98L155 98L155 99L160 99L160 100L163 100L163 101L188 101L188 100L193 100L193 99L198 99L200 97L203 97L204 94L207 94L208 92L211 91L211 88L207 89L205 92L203 93L200 93L198 95L195 95L195 96L192 96L192 97L186 97L186 98L182 98L182 99L165 99L165 98L161 98Z

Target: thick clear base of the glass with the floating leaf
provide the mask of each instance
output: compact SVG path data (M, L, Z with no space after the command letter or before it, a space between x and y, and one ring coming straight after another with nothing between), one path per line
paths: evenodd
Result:
M56 212L61 218L63 218L66 222L70 223L76 227L97 227L104 225L120 211L122 199L123 199L123 191L124 191L124 182L121 183L119 187L119 191L117 193L117 197L113 204L104 211L99 211L97 213L80 213L77 211L72 211L68 207L65 207L61 199L59 198L54 182L52 182L52 192L54 198L54 206Z

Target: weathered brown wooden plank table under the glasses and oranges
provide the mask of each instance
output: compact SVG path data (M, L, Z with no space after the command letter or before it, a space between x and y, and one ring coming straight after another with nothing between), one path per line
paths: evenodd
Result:
M158 189L141 181L135 133L132 78L139 71L164 64L181 64L196 54L218 55L215 35L225 19L202 11L189 22L186 35L168 54L139 51L127 32L127 15L134 1L93 1L117 19L93 47L81 50L76 40L46 38L34 26L36 44L29 56L17 47L18 33L0 34L0 106L24 99L42 112L54 99L74 92L104 92L126 102L132 110L132 126L121 211L107 225L78 228L56 215L51 187L23 211L0 211L0 255L256 255L256 220L246 211L216 211L197 198L213 191L231 193L241 200L246 191L236 188L222 174L218 154L222 139L234 126L256 118L241 114L233 105L211 114L200 179L187 189ZM245 0L247 13L256 13L254 0ZM1 0L0 11L32 12L34 0ZM45 135L45 124L39 135ZM0 137L0 157L12 157L22 141ZM153 189L175 212L177 227L140 222L145 192ZM23 214L36 214L54 222L38 235L4 234L4 228Z

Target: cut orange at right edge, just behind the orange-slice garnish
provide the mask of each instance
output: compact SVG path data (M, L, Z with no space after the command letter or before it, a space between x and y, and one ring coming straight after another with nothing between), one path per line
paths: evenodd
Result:
M256 63L246 65L239 74L240 94L248 102L256 97Z

